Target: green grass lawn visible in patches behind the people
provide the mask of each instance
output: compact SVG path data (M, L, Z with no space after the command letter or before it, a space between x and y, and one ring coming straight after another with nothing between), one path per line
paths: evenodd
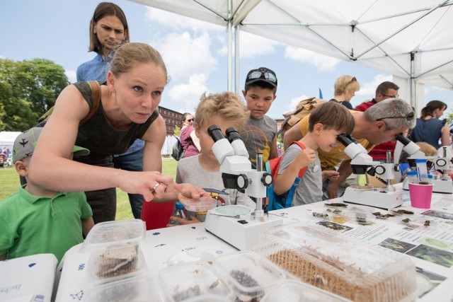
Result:
M170 175L176 179L176 163L173 158L162 158L162 173ZM14 168L0 168L0 200L17 192L20 186L19 175ZM129 197L127 193L120 189L116 190L117 194L117 209L116 220L133 219L130 209Z

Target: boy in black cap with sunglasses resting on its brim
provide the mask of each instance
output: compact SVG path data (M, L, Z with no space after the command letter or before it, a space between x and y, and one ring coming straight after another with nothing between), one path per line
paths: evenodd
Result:
M252 168L256 168L257 152L263 153L263 163L278 156L277 122L265 115L277 97L276 91L277 76L274 71L266 67L248 71L242 94L250 110L250 118L241 132L241 138L247 147Z

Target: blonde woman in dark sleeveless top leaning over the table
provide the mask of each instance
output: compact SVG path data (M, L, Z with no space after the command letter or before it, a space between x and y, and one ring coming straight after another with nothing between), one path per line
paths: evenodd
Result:
M87 82L60 93L30 162L30 182L48 190L86 191L95 223L115 219L115 187L155 202L207 196L199 187L176 184L161 174L166 131L157 106L166 83L159 52L143 43L122 45L91 119L80 124L93 105ZM113 168L113 154L124 153L137 138L145 141L144 171ZM89 149L90 155L70 161L74 144Z

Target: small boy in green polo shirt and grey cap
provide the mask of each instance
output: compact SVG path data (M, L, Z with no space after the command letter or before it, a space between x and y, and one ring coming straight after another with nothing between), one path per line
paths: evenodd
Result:
M27 182L41 131L29 129L14 141L14 167ZM79 146L72 149L72 154L88 153ZM86 236L94 225L91 216L84 192L54 192L28 182L0 202L0 260L52 253L60 261L69 248L84 241L82 231Z

